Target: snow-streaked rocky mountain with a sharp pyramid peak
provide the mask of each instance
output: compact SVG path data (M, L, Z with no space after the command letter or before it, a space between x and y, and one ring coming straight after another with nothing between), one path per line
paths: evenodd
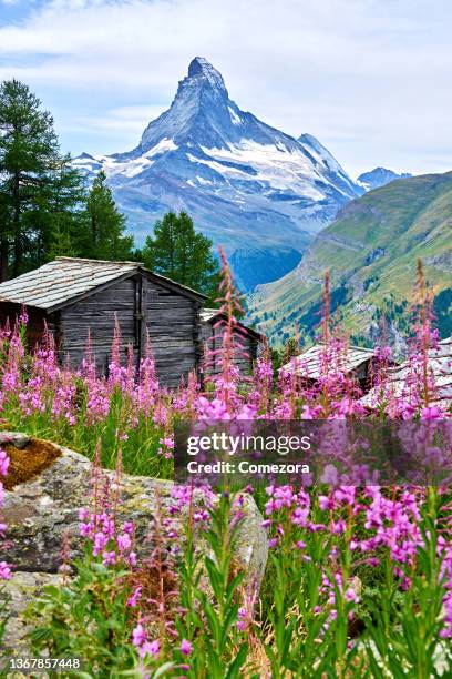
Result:
M83 153L74 165L89 178L105 171L138 243L157 217L185 210L216 245L235 253L242 281L249 280L253 251L266 251L253 282L288 272L288 250L301 253L363 191L315 138L296 140L242 111L201 57L133 151Z

